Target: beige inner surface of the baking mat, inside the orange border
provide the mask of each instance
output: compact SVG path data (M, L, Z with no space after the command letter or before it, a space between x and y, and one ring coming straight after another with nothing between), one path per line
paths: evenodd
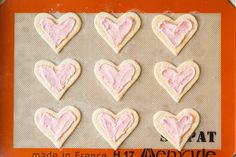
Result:
M40 107L59 111L67 105L80 109L82 120L64 147L110 148L92 124L92 113L99 107L113 112L129 107L138 112L140 122L120 148L173 148L169 142L160 141L152 118L160 110L177 114L184 108L195 108L201 115L196 137L185 148L221 147L220 14L194 14L198 19L198 31L177 57L152 31L151 21L157 14L139 14L141 29L119 54L114 53L96 32L95 14L79 14L82 28L59 55L36 32L35 15L15 14L14 147L54 147L34 124L34 113ZM60 63L68 57L80 62L82 73L61 101L57 101L35 77L34 64L40 59ZM139 79L120 102L114 101L94 75L94 64L102 58L117 64L135 59L141 65ZM160 61L178 65L187 60L199 64L201 75L177 104L158 84L153 68ZM204 131L207 142L196 142L200 131ZM209 142L207 131L216 131L215 142Z

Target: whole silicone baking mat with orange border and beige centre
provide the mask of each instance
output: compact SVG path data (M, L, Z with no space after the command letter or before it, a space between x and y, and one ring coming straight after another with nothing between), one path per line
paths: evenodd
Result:
M27 4L29 7L19 7L23 4ZM73 6L75 4L77 7ZM164 7L167 4L168 7ZM1 93L3 94L1 121L3 120L2 124L4 124L0 130L1 155L27 157L35 155L34 153L42 155L53 152L58 156L66 153L75 156L75 152L80 151L80 153L105 153L108 156L114 156L114 153L117 152L107 149L110 146L97 133L91 122L91 114L98 107L105 107L113 112L130 107L139 113L138 127L118 150L118 153L120 152L123 156L125 156L125 151L129 151L128 155L134 151L134 156L150 152L158 155L157 152L160 150L166 151L167 154L169 148L173 147L168 142L160 141L160 135L152 125L152 116L159 110L177 114L185 107L193 107L201 115L201 123L196 130L195 137L186 144L185 150L183 150L193 153L185 156L191 156L194 153L196 155L197 151L205 156L207 154L232 155L234 146L232 69L234 67L233 52L235 51L232 34L235 33L233 29L235 23L229 18L233 19L235 11L226 1L216 3L205 1L205 4L189 2L188 5L185 4L182 7L181 4L184 2L151 3L145 1L137 4L129 1L118 4L106 1L98 4L92 2L85 4L80 1L5 2L1 6L1 20L8 19L8 21L4 21L4 31L1 29L5 39L1 41L4 52L1 57L3 63L1 76L8 81L4 82L4 93ZM211 4L210 7L206 7L207 4ZM158 7L153 7L154 5ZM221 7L217 8L217 6ZM69 11L76 12L81 17L82 28L66 45L62 53L56 55L35 31L33 20L37 12L50 12L59 17L61 13L55 12ZM112 12L114 15L135 11L141 17L140 30L124 47L119 57L94 28L94 16L101 11ZM152 32L151 21L158 14L167 14L177 18L183 13L192 13L198 20L199 28L178 57L174 57ZM34 76L33 67L35 62L40 59L49 59L54 63L59 63L68 57L75 58L81 63L82 74L63 99L58 102L38 82ZM141 65L140 78L118 103L104 90L94 76L94 64L101 58L112 60L117 64L130 58L135 59ZM153 67L159 61L169 61L178 65L186 60L194 60L199 64L201 76L181 102L176 104L155 80ZM87 85L88 82L90 86ZM39 107L59 111L66 105L74 105L79 108L82 120L68 138L64 145L65 148L55 149L36 128L33 115ZM216 133L213 133L214 142L209 140L212 132ZM206 138L205 142L202 139L203 136ZM151 151L144 150L144 148L153 149Z

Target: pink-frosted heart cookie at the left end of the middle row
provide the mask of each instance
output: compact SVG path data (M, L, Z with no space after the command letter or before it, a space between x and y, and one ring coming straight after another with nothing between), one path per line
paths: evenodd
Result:
M43 86L60 100L65 91L76 81L81 72L80 65L73 59L65 59L59 65L47 60L35 64L34 73Z

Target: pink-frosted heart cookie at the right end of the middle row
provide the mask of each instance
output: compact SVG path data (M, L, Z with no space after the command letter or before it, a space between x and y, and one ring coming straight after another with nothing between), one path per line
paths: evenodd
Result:
M200 69L193 61L186 61L177 68L168 62L159 62L154 67L154 75L170 96L179 102L198 80Z

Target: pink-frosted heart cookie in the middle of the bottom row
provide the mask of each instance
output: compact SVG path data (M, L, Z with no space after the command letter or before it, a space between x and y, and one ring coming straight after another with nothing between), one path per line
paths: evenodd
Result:
M116 150L138 125L136 111L126 108L118 114L99 108L93 112L93 124L103 138Z

